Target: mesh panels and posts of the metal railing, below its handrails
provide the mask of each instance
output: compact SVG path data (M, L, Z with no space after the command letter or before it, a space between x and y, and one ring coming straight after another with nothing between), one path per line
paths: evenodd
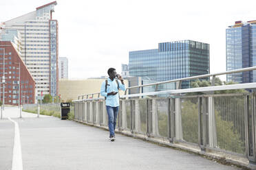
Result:
M120 99L117 127L131 134L246 156L245 108L253 110L255 106L251 102L247 106L244 103L253 97L255 93ZM209 102L210 99L213 102ZM76 120L107 127L104 100L75 102L74 108ZM209 112L214 113L214 119L210 120Z

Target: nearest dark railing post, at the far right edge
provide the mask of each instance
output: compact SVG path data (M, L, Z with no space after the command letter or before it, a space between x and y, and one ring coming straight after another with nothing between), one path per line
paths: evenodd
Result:
M249 104L251 102L251 105ZM252 93L251 99L246 95L245 106L245 126L246 126L246 154L249 160L249 167L256 169L256 95ZM249 108L251 106L251 109Z

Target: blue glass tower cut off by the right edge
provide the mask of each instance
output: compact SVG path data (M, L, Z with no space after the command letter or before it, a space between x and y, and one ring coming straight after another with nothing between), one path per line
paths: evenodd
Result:
M226 71L256 66L256 21L236 21L226 29ZM256 82L256 71L226 75L227 82Z

